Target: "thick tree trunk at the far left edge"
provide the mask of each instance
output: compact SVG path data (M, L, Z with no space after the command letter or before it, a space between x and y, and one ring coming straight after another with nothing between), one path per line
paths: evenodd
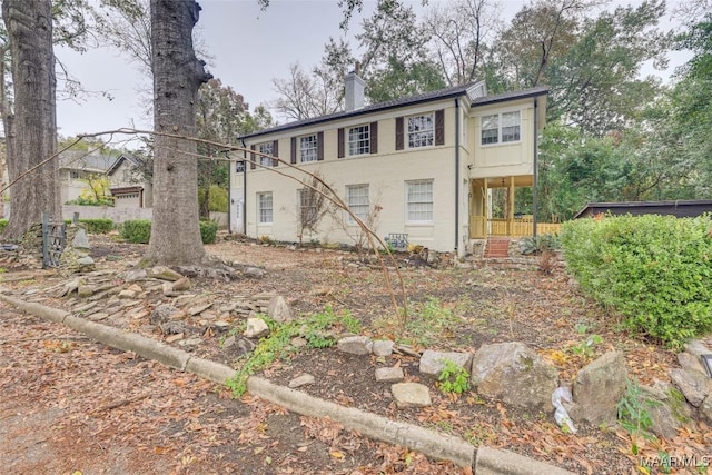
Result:
M10 43L14 107L3 95L10 182L57 152L55 52L50 0L3 0L2 18ZM14 109L14 113L12 112ZM41 221L42 212L61 218L58 159L53 158L10 189L10 220L2 234L18 240Z

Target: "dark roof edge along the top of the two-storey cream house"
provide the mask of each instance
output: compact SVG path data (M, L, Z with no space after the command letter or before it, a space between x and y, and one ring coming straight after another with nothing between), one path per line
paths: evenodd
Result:
M314 125L317 125L317 123L328 122L328 121L332 121L332 120L346 119L348 117L357 117L357 116L362 116L362 115L365 115L365 113L377 112L377 111L380 111L380 110L389 110L389 109L395 109L395 108L398 108L398 107L413 106L413 105L422 103L422 102L429 102L429 101L434 101L434 100L449 99L449 98L454 98L454 97L457 97L457 96L462 96L463 93L467 92L467 89L469 89L471 87L477 85L478 82L471 82L471 83L467 83L467 85L454 86L452 88L446 88L446 89L441 89L441 90L429 91L429 92L423 92L423 93L419 93L419 95L408 96L408 97L404 97L404 98L400 98L400 99L393 99L393 100L388 100L388 101L385 101L385 102L378 102L378 103L374 103L374 105L370 105L370 106L363 107L363 108L357 109L357 110L350 110L348 112L347 111L340 111L340 112L329 113L327 116L320 116L320 117L314 117L314 118L310 118L310 119L297 120L297 121L294 121L294 122L284 123L281 126L271 127L269 129L264 129L264 130L260 130L258 132L247 133L247 135L240 136L238 138L247 139L247 138L253 138L253 137L259 137L259 136L264 136L264 135L267 135L267 133L281 132L281 131L285 131L285 130L297 129L299 127L314 126ZM485 103L494 103L494 102L501 102L501 101L505 101L505 100L514 100L514 99L523 99L523 98L527 98L527 97L542 96L542 95L546 95L547 92L548 92L548 88L547 87L538 86L536 88L525 89L525 90L522 90L522 91L505 92L505 93L502 93L502 95L479 97L479 98L474 99L472 105L473 106L483 106Z

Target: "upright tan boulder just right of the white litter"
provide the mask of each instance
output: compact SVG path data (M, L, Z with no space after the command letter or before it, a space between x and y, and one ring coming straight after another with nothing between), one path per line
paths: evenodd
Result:
M613 424L617 404L625 394L627 372L621 352L609 352L576 374L573 384L574 403L571 418L593 425Z

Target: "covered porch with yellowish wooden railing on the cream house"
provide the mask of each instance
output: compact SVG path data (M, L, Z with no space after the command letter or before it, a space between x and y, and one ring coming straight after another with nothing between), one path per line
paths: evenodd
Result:
M506 176L469 180L469 238L534 235L534 218L515 209L516 188L531 188L533 177ZM537 222L536 234L557 234L560 224Z

